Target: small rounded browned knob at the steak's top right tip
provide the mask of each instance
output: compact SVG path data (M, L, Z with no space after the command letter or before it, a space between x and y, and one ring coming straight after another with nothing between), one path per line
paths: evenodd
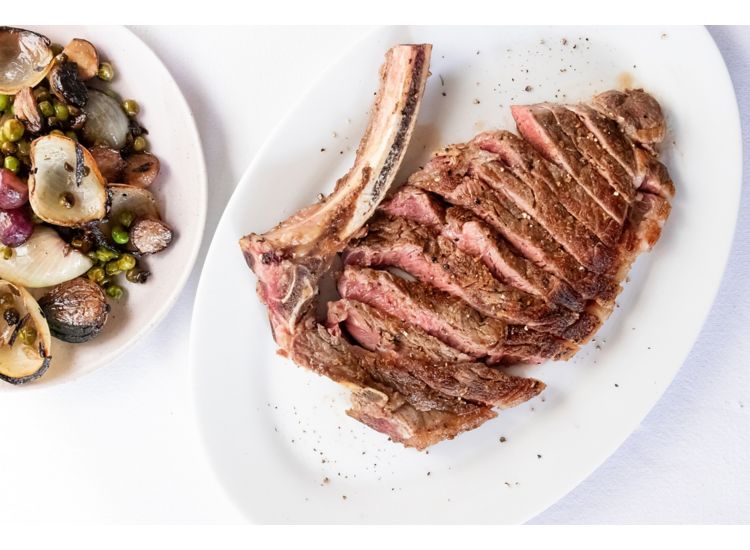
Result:
M623 133L637 143L660 143L667 133L659 102L643 90L609 90L594 96L592 106L615 120Z

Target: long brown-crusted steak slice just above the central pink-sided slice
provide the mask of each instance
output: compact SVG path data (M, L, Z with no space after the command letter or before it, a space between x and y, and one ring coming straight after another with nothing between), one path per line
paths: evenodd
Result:
M453 146L434 157L409 183L471 210L539 268L566 281L585 299L616 295L606 277L591 273L528 215L475 177L466 176L466 147Z

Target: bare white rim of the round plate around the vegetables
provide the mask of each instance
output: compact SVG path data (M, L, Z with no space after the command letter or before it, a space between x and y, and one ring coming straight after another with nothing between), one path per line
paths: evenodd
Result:
M92 372L154 328L177 300L195 264L206 217L206 169L193 115L169 71L148 46L124 27L27 28L63 45L72 38L85 38L114 65L112 88L141 106L138 120L148 129L150 150L161 162L161 173L150 190L176 237L167 250L148 258L152 276L145 285L123 283L127 297L113 305L95 340L84 344L53 340L47 374L25 386L0 383L0 391L41 388Z

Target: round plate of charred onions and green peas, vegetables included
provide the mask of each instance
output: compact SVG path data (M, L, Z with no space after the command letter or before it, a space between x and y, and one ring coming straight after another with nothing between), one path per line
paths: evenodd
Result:
M205 212L192 114L145 44L0 27L0 390L90 372L153 328Z

